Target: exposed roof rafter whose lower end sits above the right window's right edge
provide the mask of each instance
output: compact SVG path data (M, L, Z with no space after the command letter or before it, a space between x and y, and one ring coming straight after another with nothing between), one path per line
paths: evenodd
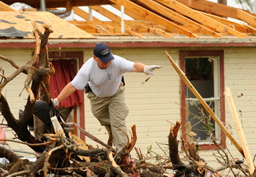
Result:
M200 25L199 23L196 23L195 21L192 21L191 19L188 19L187 17L184 17L183 15L180 15L179 13L159 4L152 0L137 0L140 1L140 3L143 3L147 7L153 9L154 11L158 11L161 13L161 15L164 15L167 18L170 18L174 21L177 21L179 23L182 23L183 25L194 25L200 29L201 32L204 32L205 34L208 34L210 36L213 36L214 38L224 38L220 34L212 31L211 29L204 27L203 25Z

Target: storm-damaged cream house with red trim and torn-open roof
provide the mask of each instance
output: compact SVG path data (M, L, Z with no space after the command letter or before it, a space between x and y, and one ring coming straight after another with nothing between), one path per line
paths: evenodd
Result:
M7 5L6 8L14 3L8 0L2 2ZM36 9L40 8L34 1L19 2L27 3ZM111 5L119 9L121 15L115 15L103 5ZM88 6L90 11L97 11L108 17L110 21L101 21L93 17L90 11L87 13L79 6ZM128 60L163 66L160 70L156 70L153 76L141 73L124 75L126 102L130 108L126 118L127 126L136 125L138 136L136 147L142 150L144 156L147 155L147 150L151 149L151 146L153 152L163 155L168 148L166 144L170 126L176 121L181 121L181 137L190 138L184 133L185 131L196 133L194 138L199 142L200 155L210 166L215 163L212 163L215 160L212 154L216 153L214 150L216 146L208 142L210 137L205 133L206 128L202 122L199 121L198 107L202 105L184 82L181 82L165 51L179 64L206 103L226 125L234 139L239 142L232 114L224 95L225 88L230 88L243 123L251 156L256 154L254 141L256 127L254 119L256 113L255 14L204 0L93 2L74 0L72 3L71 1L67 3L59 1L57 4L46 1L46 7L73 9L73 13L83 17L85 21L67 22L60 19L50 21L54 19L50 13L35 12L30 9L12 13L1 11L0 20L11 23L17 18L15 16L24 15L24 13L44 18L38 21L45 20L55 30L48 42L50 58L52 60L56 58L75 59L77 63L74 65L78 66L76 69L79 69L81 64L92 56L92 48L97 42L108 44L113 54L118 54ZM6 16L9 14L13 14L13 17L7 19ZM132 20L124 19L124 14L129 15ZM239 19L241 22L234 22L230 18ZM3 23L6 22L1 21L1 24ZM71 24L73 24L72 27ZM2 25L0 29L3 29ZM25 29L18 30L26 32ZM34 44L34 39L30 34L22 38L0 39L0 54L12 58L18 64L23 64L24 60L32 56ZM13 72L13 68L8 63L2 60L0 63L1 67L7 71L5 74ZM24 106L23 99L27 97L26 93L22 93L20 101L16 100L17 95L22 92L23 82L24 76L19 76L19 79L13 80L13 84L8 84L6 88L7 99L11 101L12 109L16 113ZM13 87L14 84L20 85L20 88ZM83 92L80 94L83 98L83 105L76 108L80 110L77 111L77 116L83 117L84 115L85 119L77 117L75 121L82 120L80 125L85 125L86 131L102 141L107 141L108 133L93 117L86 95ZM242 158L230 139L220 131L215 121L210 119L210 123L219 145L228 149L233 157ZM95 145L95 142L89 138L86 138L86 141Z

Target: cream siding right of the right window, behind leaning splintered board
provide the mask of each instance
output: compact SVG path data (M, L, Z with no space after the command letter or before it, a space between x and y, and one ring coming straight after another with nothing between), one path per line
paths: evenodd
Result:
M224 69L225 85L232 92L234 104L239 111L239 117L243 125L243 131L247 138L251 156L256 154L255 133L256 129L256 51L255 48L233 48L225 51ZM242 96L243 95L243 96ZM230 113L230 108L226 103L226 123L232 127L232 133L238 142L236 127ZM240 154L227 140L229 150L232 154ZM235 156L235 155L234 155Z

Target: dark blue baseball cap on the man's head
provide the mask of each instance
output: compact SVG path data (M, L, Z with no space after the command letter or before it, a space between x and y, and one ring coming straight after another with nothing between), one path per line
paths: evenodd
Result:
M101 62L107 63L114 60L114 56L110 52L110 48L103 43L98 43L93 48L93 55L97 56Z

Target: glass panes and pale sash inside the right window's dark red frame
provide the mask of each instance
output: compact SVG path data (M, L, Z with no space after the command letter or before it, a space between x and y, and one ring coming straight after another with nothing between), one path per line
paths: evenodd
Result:
M217 64L214 64L214 62ZM216 70L216 72L214 72L214 70ZM219 93L218 58L185 58L185 74L218 117L219 111L217 108L220 103L220 97L218 94L215 94ZM217 91L214 91L214 89ZM208 135L210 130L212 130L212 133L216 136L218 127L214 119L208 119L209 115L207 111L187 86L185 86L185 106L187 109L185 127L189 132L193 132L196 141L210 141L211 139ZM205 121L207 121L212 129L206 126ZM218 136L216 137L218 139ZM192 139L190 140L192 141Z

